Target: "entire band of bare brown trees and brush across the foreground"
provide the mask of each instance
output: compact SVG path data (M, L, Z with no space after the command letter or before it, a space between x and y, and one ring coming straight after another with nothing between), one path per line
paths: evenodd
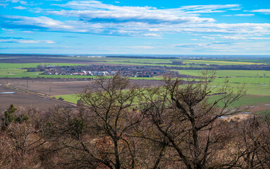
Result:
M77 109L30 109L2 127L5 168L270 168L270 118L228 123L245 94L211 86L212 73L183 85L138 87L119 75L100 77L79 94ZM208 96L219 93L215 101ZM5 124L5 123L4 123Z

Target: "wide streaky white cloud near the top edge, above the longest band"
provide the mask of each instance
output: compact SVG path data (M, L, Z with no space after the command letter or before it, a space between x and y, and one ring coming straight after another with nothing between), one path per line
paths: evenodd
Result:
M114 6L99 1L70 1L62 7L73 10L49 11L49 14L73 16L87 22L211 23L213 18L190 15L185 8L157 9L149 6ZM185 9L185 10L184 10Z

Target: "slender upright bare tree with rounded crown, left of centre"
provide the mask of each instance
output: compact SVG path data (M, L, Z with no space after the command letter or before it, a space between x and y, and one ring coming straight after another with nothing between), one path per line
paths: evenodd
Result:
M114 75L106 80L99 77L96 88L85 87L79 94L93 112L93 127L98 130L97 140L103 139L109 147L99 151L102 163L109 168L135 168L135 142L127 133L140 123L140 113L132 108L140 101L142 89L131 85L128 78ZM102 142L99 142L102 145Z

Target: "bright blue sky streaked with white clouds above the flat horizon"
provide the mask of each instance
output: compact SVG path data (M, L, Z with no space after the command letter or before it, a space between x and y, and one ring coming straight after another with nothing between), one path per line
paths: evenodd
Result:
M269 0L0 0L0 54L270 54Z

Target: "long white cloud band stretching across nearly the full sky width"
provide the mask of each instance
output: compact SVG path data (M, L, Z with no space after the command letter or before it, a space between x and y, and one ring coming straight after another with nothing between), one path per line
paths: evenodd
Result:
M270 34L270 23L90 23L84 20L54 20L45 16L24 17L8 15L4 16L13 20L8 23L16 25L33 25L61 32L85 32L102 35L125 35L158 37L164 33L204 33L204 34L238 34L250 36L262 36ZM19 27L19 26L18 26Z

